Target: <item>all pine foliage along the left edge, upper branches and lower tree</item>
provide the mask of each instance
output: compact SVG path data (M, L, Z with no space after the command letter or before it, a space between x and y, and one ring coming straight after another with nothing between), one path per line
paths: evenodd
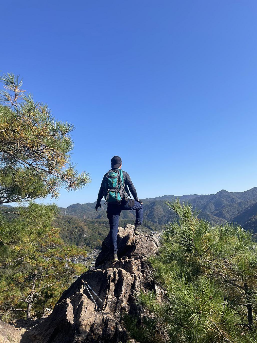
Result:
M34 102L13 74L0 80L0 204L28 202L77 190L90 182L70 162L69 123L56 121L47 105ZM40 316L53 307L71 276L85 270L69 261L86 255L65 246L51 226L56 205L35 204L0 213L0 316L8 321Z

